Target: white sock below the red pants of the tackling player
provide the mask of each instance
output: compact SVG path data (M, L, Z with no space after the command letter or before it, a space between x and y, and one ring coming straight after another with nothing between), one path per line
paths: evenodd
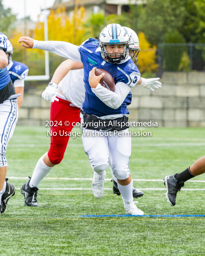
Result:
M40 182L43 180L44 177L49 173L49 171L53 167L48 167L44 162L43 162L43 156L39 159L38 163L36 164L36 167L33 171L29 186L31 188L33 187L38 187Z

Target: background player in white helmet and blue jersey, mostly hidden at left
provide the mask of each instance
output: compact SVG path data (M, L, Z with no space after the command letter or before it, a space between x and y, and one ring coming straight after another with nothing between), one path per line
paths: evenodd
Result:
M18 97L18 109L20 108L23 99L24 99L24 79L28 75L28 67L26 64L12 61L12 54L13 54L13 46L11 42L8 40L7 42L7 51L6 56L8 57L8 65L7 70L10 74L11 81L14 85L16 94L20 93L21 95Z

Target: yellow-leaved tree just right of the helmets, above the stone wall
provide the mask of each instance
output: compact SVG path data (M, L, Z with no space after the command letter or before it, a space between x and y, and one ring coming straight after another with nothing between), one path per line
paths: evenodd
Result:
M156 64L156 46L151 47L150 43L146 40L144 33L139 32L139 45L140 52L138 55L137 67L140 73L155 72L158 68Z

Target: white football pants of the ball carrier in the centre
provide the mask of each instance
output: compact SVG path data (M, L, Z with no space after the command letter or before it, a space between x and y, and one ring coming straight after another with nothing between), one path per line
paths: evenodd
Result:
M88 132L89 135L86 134ZM106 170L110 158L115 177L118 180L125 180L130 175L131 135L128 129L120 132L124 134L120 136L119 132L114 134L114 132L99 132L83 128L82 141L94 171L100 173Z

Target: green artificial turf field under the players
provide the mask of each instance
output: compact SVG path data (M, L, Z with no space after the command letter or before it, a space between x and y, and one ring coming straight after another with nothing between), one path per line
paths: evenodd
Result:
M145 130L151 131L152 137L132 137L131 175L145 180L134 181L145 193L137 207L146 215L204 215L205 190L191 189L205 189L205 183L187 182L184 189L190 190L182 189L176 206L171 207L166 190L159 190L165 188L163 182L146 181L181 172L205 155L204 128ZM17 126L9 142L7 176L17 190L0 216L1 256L205 255L205 217L81 217L125 214L121 196L112 193L109 169L103 198L96 199L92 190L83 190L91 188L88 179L93 170L81 137L70 139L61 164L39 185L44 188L37 196L40 206L24 206L19 188L49 148L46 131L45 127ZM205 175L192 180L205 180Z

